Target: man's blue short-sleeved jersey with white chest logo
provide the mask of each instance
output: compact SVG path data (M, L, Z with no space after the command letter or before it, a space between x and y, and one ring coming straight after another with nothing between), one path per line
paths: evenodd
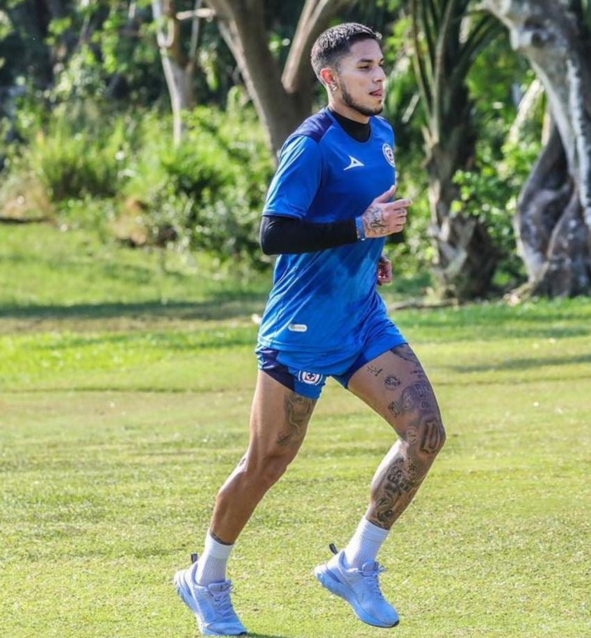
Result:
M371 117L371 135L357 142L328 109L289 136L266 197L264 215L334 222L362 215L395 182L394 133ZM378 295L384 238L277 257L273 288L259 328L259 346L284 352L346 352L364 338L364 324L386 314Z

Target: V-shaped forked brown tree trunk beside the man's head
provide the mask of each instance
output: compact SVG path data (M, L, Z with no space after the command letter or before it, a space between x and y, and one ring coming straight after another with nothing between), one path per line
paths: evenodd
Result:
M246 88L277 154L283 142L310 115L314 79L307 56L314 38L344 6L355 0L307 0L282 78L271 54L262 0L207 0L234 56ZM305 60L305 62L304 62Z

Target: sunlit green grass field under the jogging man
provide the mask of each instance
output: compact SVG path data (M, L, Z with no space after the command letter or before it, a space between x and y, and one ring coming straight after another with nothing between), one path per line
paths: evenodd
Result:
M241 456L267 277L0 228L0 636L196 635L172 574ZM387 299L394 302L404 291ZM330 382L236 545L267 638L591 636L591 303L400 311L448 442L380 561L394 630L311 569L343 546L392 442Z

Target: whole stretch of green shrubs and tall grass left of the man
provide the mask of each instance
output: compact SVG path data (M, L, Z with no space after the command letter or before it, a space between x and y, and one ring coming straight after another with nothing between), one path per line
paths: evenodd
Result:
M257 231L273 162L254 110L233 90L226 111L200 106L185 120L174 147L170 115L60 104L22 127L27 143L13 153L10 176L33 179L67 227L268 264Z

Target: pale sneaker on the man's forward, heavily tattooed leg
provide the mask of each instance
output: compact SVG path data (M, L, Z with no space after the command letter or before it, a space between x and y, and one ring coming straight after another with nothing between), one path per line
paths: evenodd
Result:
M367 562L362 569L347 567L345 553L336 553L336 549L334 552L336 555L330 561L314 569L321 585L346 600L364 623L375 627L398 625L396 610L380 591L378 575L385 571L384 567L374 561Z

